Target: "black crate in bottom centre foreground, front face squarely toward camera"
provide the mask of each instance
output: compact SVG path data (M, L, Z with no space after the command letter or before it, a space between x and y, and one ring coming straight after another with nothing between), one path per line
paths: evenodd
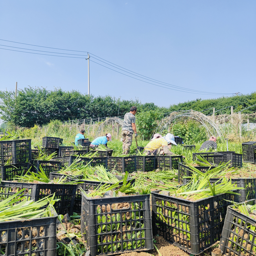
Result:
M91 255L153 249L149 194L100 199L81 194L81 234Z

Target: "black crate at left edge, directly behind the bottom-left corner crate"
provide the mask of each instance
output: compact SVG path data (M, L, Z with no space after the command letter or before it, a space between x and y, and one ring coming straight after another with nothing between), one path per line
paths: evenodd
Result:
M17 193L22 188L27 188L23 193L28 200L38 201L46 196L55 193L54 199L60 199L55 202L54 208L58 214L73 214L74 199L76 196L76 185L67 184L48 184L48 183L23 183L12 181L1 181L0 183L0 201Z

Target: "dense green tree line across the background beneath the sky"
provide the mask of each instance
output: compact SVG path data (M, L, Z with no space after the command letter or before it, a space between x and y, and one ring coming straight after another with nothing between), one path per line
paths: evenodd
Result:
M152 129L152 124L156 120L160 120L171 111L187 109L203 111L212 107L215 107L217 111L221 108L234 106L234 111L237 112L256 104L256 92L218 99L191 100L171 105L169 108L158 107L153 102L142 104L137 99L120 100L109 95L94 97L74 90L65 92L60 88L48 91L45 88L29 87L19 90L17 98L15 98L14 91L0 91L0 99L1 118L15 126L33 127L35 124L48 124L50 120L56 119L66 121L93 117L123 116L129 111L130 107L135 105L138 108L138 117L140 116L139 125L141 129L146 131ZM255 111L256 106L245 110L244 113ZM211 113L212 109L204 111L206 115ZM216 113L216 115L218 114L230 114L230 108L223 109ZM149 133L151 134L151 132Z

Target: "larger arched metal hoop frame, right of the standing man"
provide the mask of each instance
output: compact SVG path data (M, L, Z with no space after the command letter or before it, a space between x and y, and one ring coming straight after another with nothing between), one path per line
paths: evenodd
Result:
M164 128L168 124L171 124L175 119L177 119L177 118L180 119L182 117L190 117L190 118L193 118L193 119L197 120L198 122L200 122L206 129L206 131L208 133L208 137L210 137L210 134L211 134L211 136L215 135L215 137L216 137L216 134L217 134L217 136L224 138L218 125L216 125L210 118L205 116L203 113L192 110L192 109L171 112L168 116L166 116L164 119L162 119L160 124L157 126L154 134L157 132L161 134L164 131ZM210 124L210 126L214 130L214 134L212 134L211 130L209 129L209 127L206 124ZM161 129L160 129L160 127L161 127ZM153 138L154 134L152 134L151 139Z

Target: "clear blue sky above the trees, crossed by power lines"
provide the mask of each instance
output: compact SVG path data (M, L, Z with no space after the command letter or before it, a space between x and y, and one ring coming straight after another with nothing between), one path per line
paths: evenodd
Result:
M0 39L88 51L165 83L222 94L255 91L255 30L256 1L0 1ZM87 93L87 79L85 59L0 49L0 90L15 89L18 82L18 89L29 85ZM90 85L95 96L166 107L218 97L157 87L92 62Z

